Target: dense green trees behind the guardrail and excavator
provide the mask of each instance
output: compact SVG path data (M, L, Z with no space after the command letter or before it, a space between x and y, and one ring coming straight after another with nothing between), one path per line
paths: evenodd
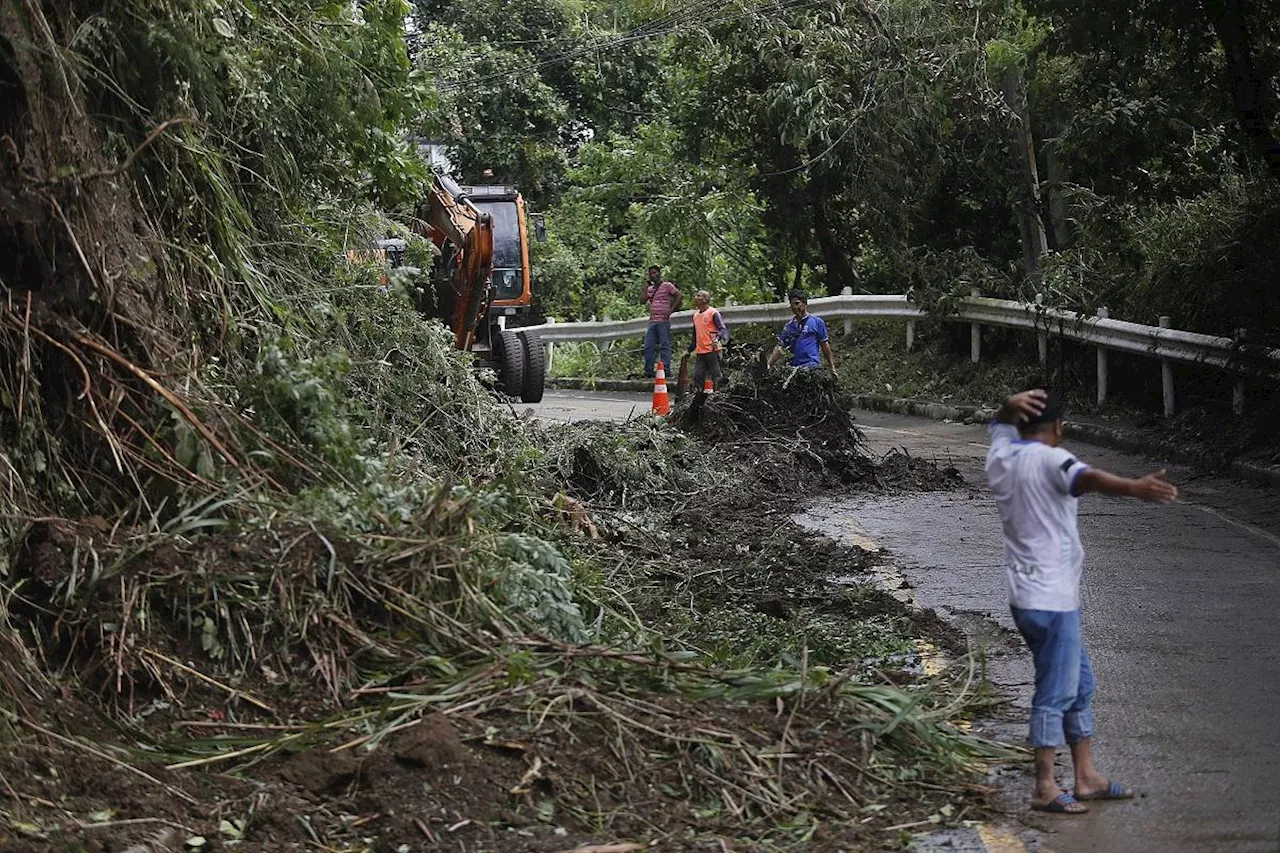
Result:
M420 0L422 131L548 211L544 309L634 315L648 263L1042 291L1230 333L1280 320L1280 8L1158 0Z

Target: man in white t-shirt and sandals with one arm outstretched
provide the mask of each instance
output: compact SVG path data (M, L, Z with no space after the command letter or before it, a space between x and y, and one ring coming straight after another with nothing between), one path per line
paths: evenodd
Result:
M1080 800L1126 799L1124 785L1093 766L1093 669L1080 634L1084 548L1075 525L1076 498L1088 492L1155 503L1178 498L1160 470L1140 479L1091 467L1060 447L1065 403L1041 388L1005 401L989 426L987 479L1005 533L1009 608L1036 662L1030 742L1036 748L1032 808L1079 815ZM1071 747L1075 795L1053 777L1057 748Z

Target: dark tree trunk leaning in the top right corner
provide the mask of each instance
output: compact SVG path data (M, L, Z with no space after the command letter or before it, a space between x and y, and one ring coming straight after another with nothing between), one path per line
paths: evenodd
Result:
M1201 5L1222 44L1228 88L1240 128L1271 167L1271 174L1280 177L1280 142L1275 136L1276 102L1271 82L1262 78L1253 61L1253 42L1244 4L1242 0L1202 0Z

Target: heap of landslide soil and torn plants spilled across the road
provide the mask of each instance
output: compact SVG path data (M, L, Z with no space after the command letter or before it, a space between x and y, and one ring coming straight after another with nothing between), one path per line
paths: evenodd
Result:
M833 581L868 556L791 524L781 469L659 424L584 435L559 452L602 456L595 498L556 506L648 640L556 642L462 607L498 579L454 576L477 543L448 491L413 538L32 525L9 617L69 689L13 685L4 849L870 850L980 802L956 774L986 747L931 716L948 690L882 662L916 617ZM724 453L733 488L687 453ZM657 478L643 500L599 488L632 465Z

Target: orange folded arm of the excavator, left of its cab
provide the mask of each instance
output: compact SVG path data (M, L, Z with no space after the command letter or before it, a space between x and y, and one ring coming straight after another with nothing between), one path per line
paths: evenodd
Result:
M470 350L476 327L484 318L493 287L493 218L477 209L453 181L436 175L426 200L419 205L419 219L429 227L426 237L436 245L452 245L454 343Z

